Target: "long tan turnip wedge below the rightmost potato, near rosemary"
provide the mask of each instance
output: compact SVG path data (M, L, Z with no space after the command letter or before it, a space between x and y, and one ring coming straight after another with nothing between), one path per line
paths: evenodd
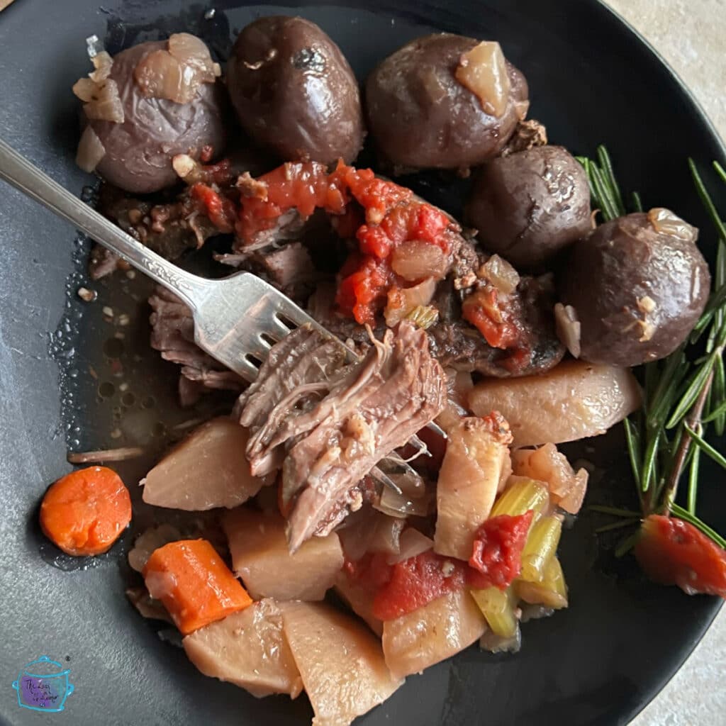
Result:
M559 444L605 433L640 406L640 387L627 368L566 361L544 375L484 380L468 401L478 416L499 411L515 446Z

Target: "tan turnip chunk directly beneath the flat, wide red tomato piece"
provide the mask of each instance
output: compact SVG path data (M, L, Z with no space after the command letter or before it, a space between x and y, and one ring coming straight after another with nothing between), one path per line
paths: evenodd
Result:
M383 653L394 677L420 673L478 640L486 621L467 590L383 623Z

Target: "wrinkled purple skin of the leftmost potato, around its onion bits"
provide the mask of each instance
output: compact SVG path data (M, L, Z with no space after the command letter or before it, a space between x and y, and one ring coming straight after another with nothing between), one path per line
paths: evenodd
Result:
M106 150L97 173L132 194L176 184L174 155L197 156L205 144L215 154L224 147L224 92L219 86L202 83L195 100L181 104L144 97L136 84L134 69L139 61L166 47L166 41L141 43L115 55L110 78L118 83L124 121L89 121Z

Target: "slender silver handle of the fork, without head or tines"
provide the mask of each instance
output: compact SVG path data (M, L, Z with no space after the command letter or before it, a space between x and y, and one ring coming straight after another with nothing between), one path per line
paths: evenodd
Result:
M211 286L210 281L180 269L134 240L68 189L44 174L0 139L0 179L40 202L85 232L91 239L121 256L160 285L179 295L195 311Z

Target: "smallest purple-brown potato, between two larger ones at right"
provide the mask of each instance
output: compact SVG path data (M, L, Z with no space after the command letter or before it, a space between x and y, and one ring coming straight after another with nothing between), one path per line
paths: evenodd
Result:
M467 216L486 250L538 268L590 232L590 185L566 149L534 147L481 168Z

